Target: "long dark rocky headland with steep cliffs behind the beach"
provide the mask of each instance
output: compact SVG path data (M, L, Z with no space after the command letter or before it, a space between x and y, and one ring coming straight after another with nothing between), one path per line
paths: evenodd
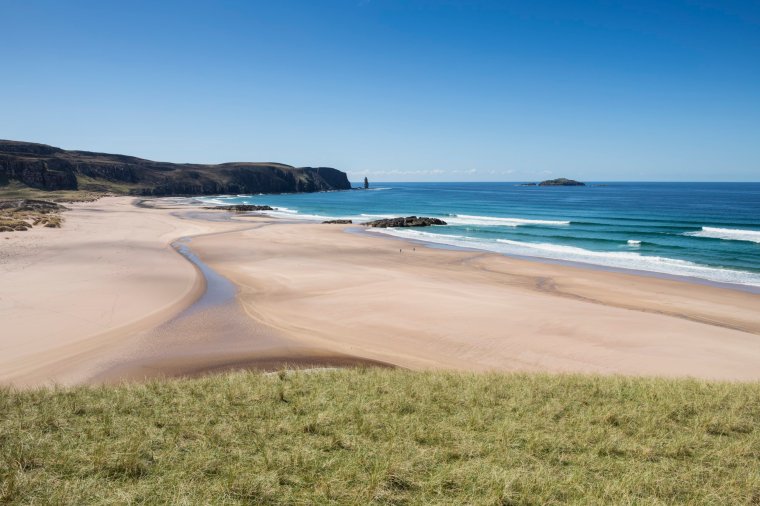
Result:
M41 190L81 189L132 195L295 193L351 188L346 174L330 167L154 162L0 140L0 189L12 181Z

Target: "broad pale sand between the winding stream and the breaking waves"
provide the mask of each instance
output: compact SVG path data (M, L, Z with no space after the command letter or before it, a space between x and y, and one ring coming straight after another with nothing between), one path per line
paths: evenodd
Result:
M402 367L760 379L756 294L343 229L273 223L193 249L255 319Z

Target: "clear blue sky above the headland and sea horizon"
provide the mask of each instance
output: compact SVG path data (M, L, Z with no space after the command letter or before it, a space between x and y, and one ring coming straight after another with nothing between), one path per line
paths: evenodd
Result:
M352 180L760 180L757 1L0 0L0 25L0 138Z

